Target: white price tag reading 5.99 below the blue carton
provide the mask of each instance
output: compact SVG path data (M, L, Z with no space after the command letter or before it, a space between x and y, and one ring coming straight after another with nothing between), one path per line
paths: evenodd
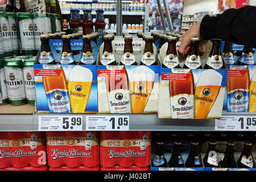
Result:
M82 131L82 115L39 116L38 131Z

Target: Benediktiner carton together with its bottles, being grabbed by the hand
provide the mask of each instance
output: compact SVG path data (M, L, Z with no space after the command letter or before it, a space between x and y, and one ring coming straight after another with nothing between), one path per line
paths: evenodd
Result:
M177 55L175 36L159 44L158 117L175 119L221 118L228 69L221 56L221 39L205 44L199 55L200 38L191 38L186 59Z

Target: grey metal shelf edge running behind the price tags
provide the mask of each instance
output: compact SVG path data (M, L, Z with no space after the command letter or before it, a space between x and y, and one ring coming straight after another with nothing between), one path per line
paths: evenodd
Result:
M38 131L39 116L49 114L0 114L0 131ZM51 114L53 115L53 114ZM60 115L60 114L55 114ZM61 114L75 115L75 114ZM81 115L81 114L78 114ZM92 115L92 114L90 114ZM95 114L107 115L107 114ZM112 114L118 115L118 114ZM122 114L129 115L130 131L214 131L214 119L159 119L157 114ZM246 116L256 113L222 113L223 116ZM82 130L85 131L83 116Z

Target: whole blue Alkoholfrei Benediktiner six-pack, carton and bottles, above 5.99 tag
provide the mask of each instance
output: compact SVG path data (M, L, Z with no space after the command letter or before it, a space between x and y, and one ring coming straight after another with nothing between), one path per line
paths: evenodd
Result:
M92 36L41 35L34 64L39 113L97 112L97 44ZM56 38L57 36L57 38Z

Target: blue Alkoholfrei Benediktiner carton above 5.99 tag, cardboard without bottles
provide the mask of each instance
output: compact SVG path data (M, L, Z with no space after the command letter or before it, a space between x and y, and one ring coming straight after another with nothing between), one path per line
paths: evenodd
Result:
M91 42L93 56L98 48ZM62 40L49 40L52 55L60 62ZM71 40L72 52L79 63L82 39ZM39 113L97 113L97 65L34 64L36 106ZM54 88L54 89L52 89ZM57 92L56 92L57 90Z

